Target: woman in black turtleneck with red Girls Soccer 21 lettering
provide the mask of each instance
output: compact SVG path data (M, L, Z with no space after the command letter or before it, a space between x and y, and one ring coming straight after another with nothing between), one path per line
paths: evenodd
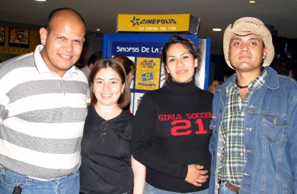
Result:
M173 36L162 49L166 84L142 98L133 121L133 156L146 166L144 193L208 193L213 95L194 84L198 52Z

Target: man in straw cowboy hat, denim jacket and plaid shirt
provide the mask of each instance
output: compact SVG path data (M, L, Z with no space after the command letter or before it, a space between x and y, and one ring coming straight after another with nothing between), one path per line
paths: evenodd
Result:
M271 33L243 17L224 32L235 74L213 98L210 193L297 192L297 83L271 67Z

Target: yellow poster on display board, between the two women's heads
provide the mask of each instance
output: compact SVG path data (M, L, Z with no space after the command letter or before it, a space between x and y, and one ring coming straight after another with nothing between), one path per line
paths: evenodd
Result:
M159 88L160 58L137 58L135 89L153 90Z

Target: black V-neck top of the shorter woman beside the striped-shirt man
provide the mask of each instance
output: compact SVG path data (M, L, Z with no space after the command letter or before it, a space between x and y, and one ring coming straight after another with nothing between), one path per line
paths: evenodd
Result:
M93 106L88 107L80 167L82 193L117 194L133 189L132 122L133 115L124 110L104 120Z

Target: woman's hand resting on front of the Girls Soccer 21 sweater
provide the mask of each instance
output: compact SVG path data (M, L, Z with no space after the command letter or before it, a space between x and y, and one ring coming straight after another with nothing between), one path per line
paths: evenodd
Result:
M188 173L186 174L186 182L189 182L195 186L202 186L202 183L207 181L209 177L207 173L209 171L203 170L204 166L198 164L189 164Z

